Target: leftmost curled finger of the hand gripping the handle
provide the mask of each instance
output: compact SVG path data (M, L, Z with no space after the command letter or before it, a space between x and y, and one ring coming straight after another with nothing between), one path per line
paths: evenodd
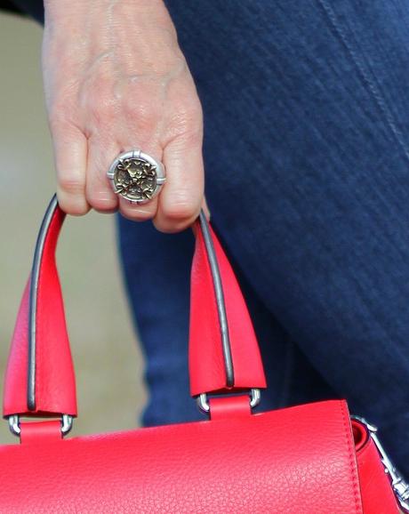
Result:
M85 197L86 137L75 126L64 123L52 126L52 136L60 207L68 214L85 214L90 210Z

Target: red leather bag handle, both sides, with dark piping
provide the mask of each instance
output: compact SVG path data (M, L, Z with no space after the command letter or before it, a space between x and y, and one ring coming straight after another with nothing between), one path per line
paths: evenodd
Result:
M76 416L76 381L55 261L65 213L57 197L44 215L17 317L4 384L4 417ZM210 223L193 227L189 326L190 392L196 397L266 387L252 321Z

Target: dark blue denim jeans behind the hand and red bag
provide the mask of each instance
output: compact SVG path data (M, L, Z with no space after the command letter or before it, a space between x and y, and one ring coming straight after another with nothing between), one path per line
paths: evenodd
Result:
M257 409L347 398L409 476L409 4L166 4L204 108L213 226L261 345ZM118 223L142 423L203 419L188 395L191 231Z

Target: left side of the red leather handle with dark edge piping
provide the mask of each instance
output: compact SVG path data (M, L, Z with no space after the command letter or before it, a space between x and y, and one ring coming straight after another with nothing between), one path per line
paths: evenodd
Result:
M76 380L55 251L65 219L52 197L20 302L4 383L4 416L76 416Z

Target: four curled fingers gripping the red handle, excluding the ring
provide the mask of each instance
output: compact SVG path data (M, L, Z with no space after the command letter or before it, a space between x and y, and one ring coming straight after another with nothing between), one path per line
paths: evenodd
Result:
M165 147L148 145L149 155L162 160L166 182L158 197L147 204L132 204L118 197L108 181L107 171L123 150L116 141L102 141L71 125L53 131L54 154L58 176L57 194L61 208L69 214L87 213L92 207L100 213L118 208L133 221L153 220L156 229L177 232L195 221L201 207L208 215L204 199L202 135L183 134ZM137 148L124 145L125 149ZM157 157L157 156L161 157Z

